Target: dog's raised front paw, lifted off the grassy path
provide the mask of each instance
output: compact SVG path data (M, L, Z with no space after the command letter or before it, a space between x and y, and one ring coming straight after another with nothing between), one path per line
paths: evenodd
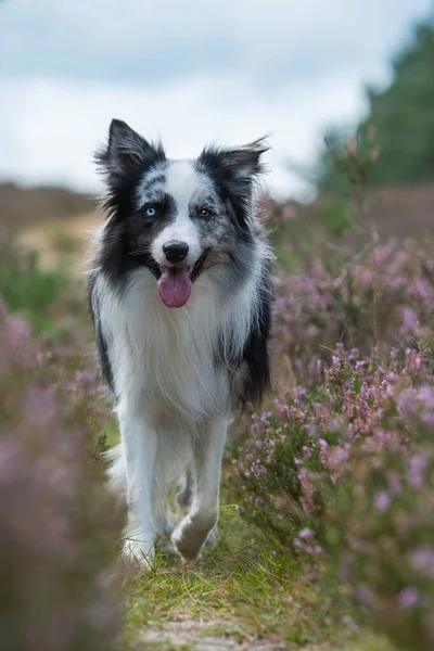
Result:
M212 545L215 540L215 515L187 515L176 527L171 535L171 542L181 557L192 563L200 558L201 549L205 544Z

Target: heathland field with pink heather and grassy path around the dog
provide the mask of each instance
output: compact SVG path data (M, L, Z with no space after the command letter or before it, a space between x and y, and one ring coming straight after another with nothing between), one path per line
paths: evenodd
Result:
M232 429L219 537L118 559L85 196L0 187L0 647L434 648L434 188L264 202L273 393ZM25 525L23 524L25 523Z

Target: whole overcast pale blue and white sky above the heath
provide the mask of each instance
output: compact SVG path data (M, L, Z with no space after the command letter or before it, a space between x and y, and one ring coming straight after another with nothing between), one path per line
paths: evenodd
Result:
M112 117L168 155L272 132L267 183L306 187L329 125L356 122L363 85L432 0L5 0L0 2L0 178L94 191Z

